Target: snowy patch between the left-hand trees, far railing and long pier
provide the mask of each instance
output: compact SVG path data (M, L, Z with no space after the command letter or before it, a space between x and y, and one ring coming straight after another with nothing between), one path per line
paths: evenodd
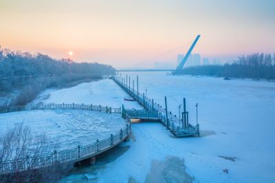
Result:
M129 95L110 79L82 83L65 89L47 89L32 103L85 103L93 105L142 109L135 102L127 102Z

